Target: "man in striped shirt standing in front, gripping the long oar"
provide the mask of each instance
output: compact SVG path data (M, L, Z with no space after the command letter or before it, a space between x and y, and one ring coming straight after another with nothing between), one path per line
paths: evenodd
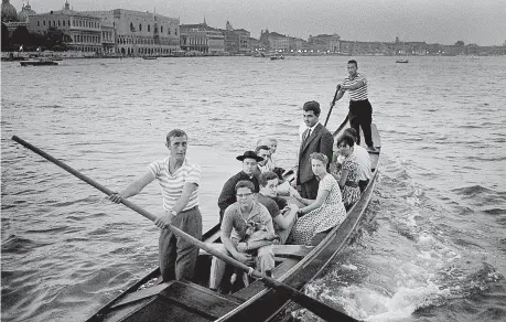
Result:
M168 224L202 238L202 215L198 210L198 185L201 184L201 167L190 163L186 159L187 136L183 130L172 130L166 135L165 146L170 157L152 162L148 171L130 183L120 193L112 193L109 200L119 203L138 194L157 179L163 195L165 214L154 224L162 228L159 240L160 270L164 281L192 280L198 256L198 247L179 237Z

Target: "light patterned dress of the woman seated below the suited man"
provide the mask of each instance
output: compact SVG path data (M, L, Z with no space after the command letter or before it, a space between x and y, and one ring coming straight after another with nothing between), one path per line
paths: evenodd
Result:
M311 245L311 239L317 233L333 228L346 218L340 185L332 174L325 174L320 181L319 190L329 191L329 195L319 208L297 221L293 232L294 244Z

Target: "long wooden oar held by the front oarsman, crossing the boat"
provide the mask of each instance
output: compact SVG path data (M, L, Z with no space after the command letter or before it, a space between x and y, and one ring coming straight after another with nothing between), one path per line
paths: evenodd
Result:
M68 173L77 176L78 179L83 180L84 182L88 183L89 185L98 189L99 191L104 192L107 195L112 194L114 192L104 185L99 184L98 182L94 181L93 179L84 175L83 173L78 172L77 170L74 170L73 168L68 167L67 164L63 163L62 161L51 157L50 154L45 153L44 151L35 148L34 146L30 144L29 142L20 139L17 136L12 137L12 140L17 141L21 146L25 147L26 149L35 152L36 154L41 155L42 158L53 162L54 164L58 165L60 168L64 169ZM148 211L144 211L140 206L136 205L134 203L121 198L121 203L126 205L127 207L131 208L132 211L139 213L140 215L147 217L148 219L154 222L158 217ZM319 315L322 319L325 319L326 321L356 321L355 319L344 314L343 312L340 312L332 307L329 307L325 303L322 303L313 298L308 297L306 294L295 290L294 288L291 288L280 281L277 281L270 277L267 277L262 275L261 272L254 270L249 266L246 266L245 264L227 256L224 255L217 250L215 250L212 247L208 247L205 243L202 243L201 240L196 239L195 237L184 233L183 230L179 229L177 227L174 227L172 225L168 225L168 228L170 228L174 234L183 237L187 242L192 243L193 245L198 246L200 248L204 249L205 251L218 257L219 259L226 261L229 265L233 265L244 271L247 271L250 276L261 279L267 286L284 293L287 297L289 297L292 301L297 302L298 304L308 308L311 310L314 314Z

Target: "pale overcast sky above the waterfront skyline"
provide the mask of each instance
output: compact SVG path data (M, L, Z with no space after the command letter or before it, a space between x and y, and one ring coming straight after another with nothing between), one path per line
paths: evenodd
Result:
M18 11L26 0L11 0ZM181 23L227 20L251 36L269 29L308 39L337 33L342 40L426 41L502 45L506 41L506 0L68 0L76 11L157 11ZM30 0L37 13L60 10L65 0Z

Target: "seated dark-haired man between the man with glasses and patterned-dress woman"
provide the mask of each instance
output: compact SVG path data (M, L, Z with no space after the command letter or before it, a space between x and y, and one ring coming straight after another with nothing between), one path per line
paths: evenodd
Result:
M299 207L295 204L288 205L284 198L278 197L279 179L276 173L271 171L263 172L258 181L260 183L260 192L257 194L257 201L269 211L274 222L276 235L279 236L280 244L286 244L295 224Z

